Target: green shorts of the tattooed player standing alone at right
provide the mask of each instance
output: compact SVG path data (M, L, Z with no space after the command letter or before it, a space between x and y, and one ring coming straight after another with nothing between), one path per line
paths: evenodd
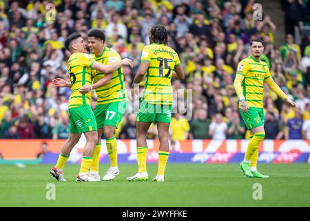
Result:
M263 108L250 107L246 113L242 112L241 109L239 109L239 112L248 130L262 126L265 123Z

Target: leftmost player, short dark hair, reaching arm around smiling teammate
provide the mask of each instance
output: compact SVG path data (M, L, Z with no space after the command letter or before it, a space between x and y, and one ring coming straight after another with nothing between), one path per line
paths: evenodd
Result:
M94 147L98 143L96 119L90 107L91 94L80 93L80 90L87 88L87 86L90 86L90 89L99 87L98 84L92 85L92 69L105 73L105 77L103 77L99 84L108 84L111 79L111 74L109 73L113 73L114 70L118 70L123 65L132 66L133 64L129 59L123 59L110 65L100 64L91 55L86 54L87 45L79 33L73 33L65 39L65 48L72 53L68 60L70 82L66 82L63 79L54 79L53 84L55 86L68 86L72 90L69 98L70 135L65 144L63 144L56 166L52 168L50 174L56 180L65 181L63 168L72 148L79 142L81 133L84 133L87 141L83 148L81 169L76 180L99 181L100 179L91 176L89 173L93 162Z

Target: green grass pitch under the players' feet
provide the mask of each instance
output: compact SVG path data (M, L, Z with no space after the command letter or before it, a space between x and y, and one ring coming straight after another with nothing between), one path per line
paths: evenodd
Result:
M76 182L79 165L65 166L67 182L56 182L52 165L0 166L0 206L310 206L309 164L260 164L269 179L248 178L238 164L167 164L165 182L153 182L157 164L147 164L149 181L128 182L136 164L120 164L110 182ZM101 176L107 164L100 165ZM47 184L55 200L47 200ZM262 200L254 200L254 184Z

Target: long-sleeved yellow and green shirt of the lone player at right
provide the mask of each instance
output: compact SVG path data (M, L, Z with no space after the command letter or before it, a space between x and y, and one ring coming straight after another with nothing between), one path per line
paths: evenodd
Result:
M252 56L246 57L239 62L236 80L242 80L242 94L249 107L262 108L264 81L269 85L271 90L282 99L286 97L285 93L283 93L279 86L273 81L267 64L264 61L256 61ZM238 95L237 90L236 93Z

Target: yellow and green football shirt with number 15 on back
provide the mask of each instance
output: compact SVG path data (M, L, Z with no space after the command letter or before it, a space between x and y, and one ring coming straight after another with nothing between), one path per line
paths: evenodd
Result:
M173 102L172 72L180 65L174 49L164 44L150 44L143 48L141 62L149 62L145 76L142 101L150 104L170 105Z

